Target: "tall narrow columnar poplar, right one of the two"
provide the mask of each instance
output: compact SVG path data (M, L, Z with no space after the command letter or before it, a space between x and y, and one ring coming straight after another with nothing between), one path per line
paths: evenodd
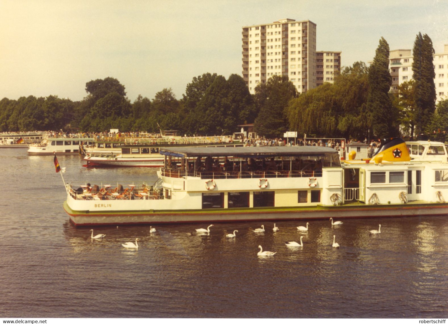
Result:
M429 123L429 116L435 111L434 65L431 38L418 33L414 42L414 61L412 63L415 80L414 101L416 108L416 134L420 134Z

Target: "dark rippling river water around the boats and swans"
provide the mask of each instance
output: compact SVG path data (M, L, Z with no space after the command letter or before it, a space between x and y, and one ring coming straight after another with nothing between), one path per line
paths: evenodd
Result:
M66 182L155 181L150 168L82 167ZM74 228L52 156L0 149L0 317L446 318L448 217ZM378 229L381 234L371 235ZM236 238L225 234L238 230ZM285 241L300 241L289 248ZM332 248L333 235L340 248ZM121 243L139 238L137 251ZM277 252L257 257L258 245Z

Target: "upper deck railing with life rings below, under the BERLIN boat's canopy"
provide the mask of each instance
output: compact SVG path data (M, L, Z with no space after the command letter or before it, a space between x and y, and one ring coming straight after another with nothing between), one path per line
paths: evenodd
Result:
M172 170L161 168L162 176L181 178L181 177L199 177L201 179L245 179L245 178L293 178L293 177L322 177L322 170L306 171L194 171L185 172L181 170Z

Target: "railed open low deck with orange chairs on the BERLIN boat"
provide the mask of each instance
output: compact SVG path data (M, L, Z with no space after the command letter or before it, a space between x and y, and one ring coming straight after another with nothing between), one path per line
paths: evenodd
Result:
M163 199L163 191L145 182L128 185L116 183L92 185L67 184L68 193L76 200L140 200Z

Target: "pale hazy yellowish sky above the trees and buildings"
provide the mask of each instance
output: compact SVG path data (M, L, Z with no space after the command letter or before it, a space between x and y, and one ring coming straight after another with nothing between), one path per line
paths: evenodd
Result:
M447 0L0 0L0 99L86 97L86 82L114 77L131 102L194 76L241 75L241 27L278 19L317 24L317 50L342 66L370 61L383 36L412 49L418 32L448 44Z

